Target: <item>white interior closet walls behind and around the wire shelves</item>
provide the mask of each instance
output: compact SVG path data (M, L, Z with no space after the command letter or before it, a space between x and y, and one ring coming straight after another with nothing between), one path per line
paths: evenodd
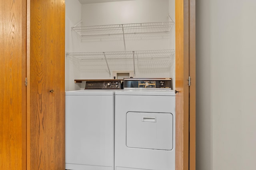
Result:
M66 0L67 16L71 15L74 7L69 7ZM170 5L171 4L171 5ZM172 7L170 10L169 7ZM170 16L174 19L174 0L132 0L122 2L106 2L95 4L82 4L80 7L80 20L82 26L97 26L109 24L130 24L144 22L166 22L170 21ZM70 17L71 18L71 17ZM78 23L80 20L76 20ZM72 20L73 22L74 20ZM74 26L75 22L73 22ZM66 27L66 31L70 32L71 25ZM128 34L125 35L125 45L123 35L114 36L86 36L81 38L76 32L69 34L68 52L107 52L107 51L141 51L141 50L158 50L158 49L174 49L175 48L175 30L174 27L170 33L161 34ZM118 70L134 70L133 61L127 59L114 59L108 61L110 67L110 75L105 61L77 61L68 57L69 65L66 71L67 83L66 90L75 90L78 87L74 84L74 79L112 79L112 71ZM78 64L79 63L79 64ZM156 64L157 63L157 64ZM159 64L160 63L160 64ZM175 65L172 62L148 62L135 61L134 77L174 77ZM72 71L69 71L71 67ZM79 73L78 71L79 70ZM72 78L73 77L73 80Z

